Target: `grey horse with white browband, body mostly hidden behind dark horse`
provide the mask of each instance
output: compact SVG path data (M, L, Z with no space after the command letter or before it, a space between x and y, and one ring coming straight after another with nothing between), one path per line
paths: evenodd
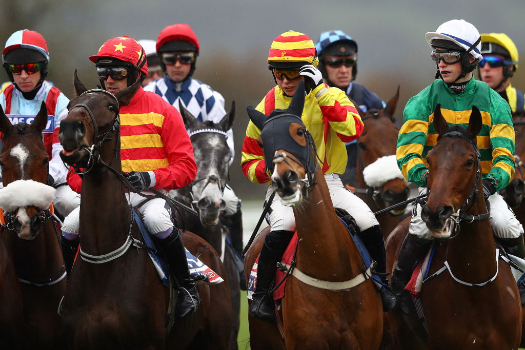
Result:
M230 350L237 349L237 333L240 325L240 287L239 273L235 266L233 252L226 246L227 228L220 224L219 216L225 208L223 192L228 181L229 161L232 159L226 142L226 132L232 129L235 118L235 102L222 120L199 122L184 106L179 104L182 119L190 132L197 175L187 186L172 190L181 203L192 207L198 216L182 211L186 229L204 238L219 254L226 269L226 278L232 297L234 317ZM230 237L231 239L231 237Z

